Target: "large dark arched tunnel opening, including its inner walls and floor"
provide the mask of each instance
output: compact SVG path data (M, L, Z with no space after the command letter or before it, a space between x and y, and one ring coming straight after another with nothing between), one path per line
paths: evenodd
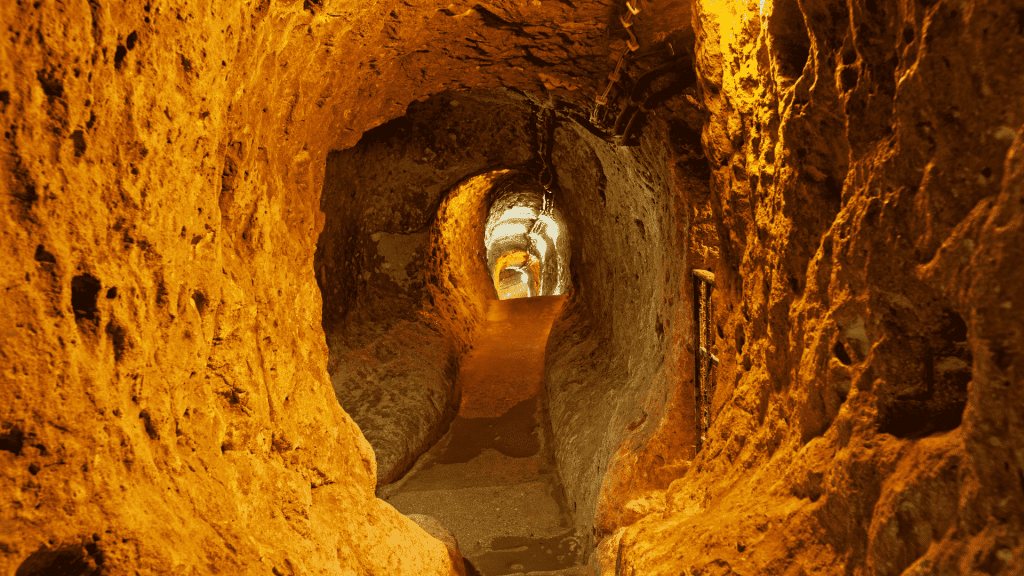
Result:
M615 414L667 397L655 359L693 328L665 320L689 303L670 240L685 227L652 215L676 202L673 170L695 180L707 162L670 167L664 134L616 147L545 110L502 89L434 94L331 152L321 194L328 371L377 495L440 522L485 576L586 561L623 465L598 448L657 429ZM580 382L605 400L582 402Z

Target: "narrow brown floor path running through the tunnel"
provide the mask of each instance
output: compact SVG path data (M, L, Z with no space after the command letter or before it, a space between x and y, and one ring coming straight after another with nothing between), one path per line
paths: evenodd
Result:
M548 448L544 348L564 296L493 300L459 374L447 434L379 495L451 530L468 575L577 565L580 548Z

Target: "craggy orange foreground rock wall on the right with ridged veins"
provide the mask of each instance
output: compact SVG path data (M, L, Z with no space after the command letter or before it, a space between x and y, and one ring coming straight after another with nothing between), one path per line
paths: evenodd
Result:
M694 23L717 415L605 566L1021 572L1024 13L698 2Z

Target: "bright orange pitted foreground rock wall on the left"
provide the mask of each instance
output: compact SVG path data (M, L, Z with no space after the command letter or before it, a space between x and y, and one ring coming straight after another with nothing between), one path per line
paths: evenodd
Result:
M0 7L0 571L449 573L373 497L311 265L330 150L496 82L382 85L392 10L457 22L398 4Z

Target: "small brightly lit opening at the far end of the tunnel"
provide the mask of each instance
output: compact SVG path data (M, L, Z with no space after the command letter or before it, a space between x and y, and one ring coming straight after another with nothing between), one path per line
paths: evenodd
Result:
M513 179L497 191L483 243L499 299L565 293L569 246L564 218L540 186Z

